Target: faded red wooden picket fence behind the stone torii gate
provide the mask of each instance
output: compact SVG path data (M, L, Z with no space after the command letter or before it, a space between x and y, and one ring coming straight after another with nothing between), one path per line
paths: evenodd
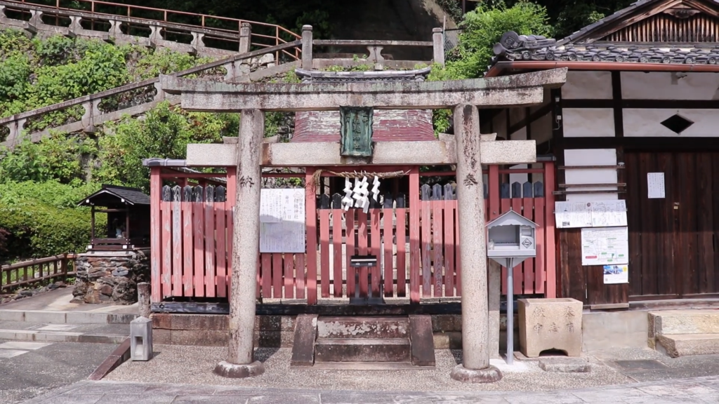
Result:
M153 301L229 296L234 170L228 171L201 175L153 168ZM303 175L311 182L313 174L308 168ZM539 224L537 257L514 269L516 293L556 296L553 163L530 169L490 167L486 174L487 220L513 209ZM541 174L542 181L510 184L510 174ZM366 214L359 209L343 211L337 196L331 200L324 195L318 201L314 187L307 187L306 254L260 254L257 297L307 299L308 304L316 304L318 298L347 298L355 288L362 296L409 295L415 303L422 298L460 296L456 190L447 184L420 188L420 175L417 168L408 173L407 199L385 196L383 206L375 204ZM218 176L226 178L226 185L206 185L213 181L210 177ZM163 179L178 185L163 188ZM377 266L352 268L352 254L375 255Z

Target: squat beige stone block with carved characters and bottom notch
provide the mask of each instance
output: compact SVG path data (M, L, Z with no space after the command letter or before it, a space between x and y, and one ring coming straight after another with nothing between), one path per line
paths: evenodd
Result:
M556 349L582 354L582 302L571 298L519 299L519 346L526 357Z

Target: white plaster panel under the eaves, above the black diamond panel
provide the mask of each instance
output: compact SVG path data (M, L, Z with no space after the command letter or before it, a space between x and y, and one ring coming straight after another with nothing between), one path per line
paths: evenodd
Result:
M621 72L620 77L623 99L719 99L719 73Z

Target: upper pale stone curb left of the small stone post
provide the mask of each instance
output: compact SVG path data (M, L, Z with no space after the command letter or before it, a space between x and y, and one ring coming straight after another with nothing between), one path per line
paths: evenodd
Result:
M48 324L129 324L137 314L88 311L0 310L0 321Z

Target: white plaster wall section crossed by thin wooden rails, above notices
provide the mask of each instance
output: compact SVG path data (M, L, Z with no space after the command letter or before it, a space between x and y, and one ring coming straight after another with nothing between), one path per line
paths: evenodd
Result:
M564 150L564 165L617 165L615 149L576 149ZM614 168L587 168L564 170L564 182L567 184L613 184L617 183L617 170ZM567 190L616 190L616 187L582 187ZM591 202L618 199L617 193L577 193L567 195L567 201Z

